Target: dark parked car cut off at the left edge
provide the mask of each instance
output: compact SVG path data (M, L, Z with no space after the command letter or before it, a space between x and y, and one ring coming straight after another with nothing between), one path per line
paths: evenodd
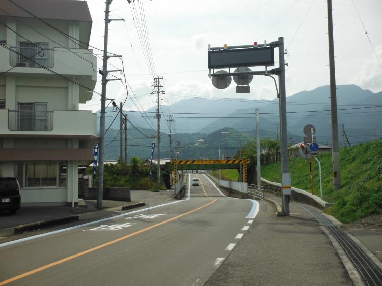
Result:
M16 178L0 177L0 211L16 213L21 208L20 185Z

